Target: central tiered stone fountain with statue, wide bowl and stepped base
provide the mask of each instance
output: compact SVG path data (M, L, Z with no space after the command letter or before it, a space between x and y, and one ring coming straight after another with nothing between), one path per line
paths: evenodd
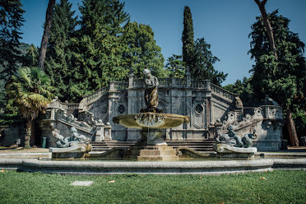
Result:
M141 129L141 140L132 146L127 157L137 160L178 160L176 151L161 138L161 129L174 128L190 121L186 115L163 113L158 106L158 80L144 69L145 104L140 113L113 117L113 122L127 128Z

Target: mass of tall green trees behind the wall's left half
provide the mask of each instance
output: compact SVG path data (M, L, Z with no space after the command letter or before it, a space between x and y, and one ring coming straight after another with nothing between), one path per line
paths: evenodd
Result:
M82 3L79 22L67 0L56 4L52 20L46 67L60 100L80 102L82 95L110 81L127 80L130 72L142 77L145 68L155 76L165 76L161 47L154 41L152 28L128 22L124 3Z

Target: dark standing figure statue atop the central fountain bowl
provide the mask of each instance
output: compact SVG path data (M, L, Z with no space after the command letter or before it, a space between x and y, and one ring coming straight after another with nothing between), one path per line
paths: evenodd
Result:
M158 106L158 79L151 74L149 69L143 70L144 82L145 82L145 104L148 109L142 109L141 112L158 112L161 110L157 109Z

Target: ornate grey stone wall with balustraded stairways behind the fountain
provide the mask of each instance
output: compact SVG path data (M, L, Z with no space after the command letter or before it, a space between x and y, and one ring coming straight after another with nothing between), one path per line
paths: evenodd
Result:
M158 109L162 109L163 113L188 115L191 118L188 124L163 130L163 138L214 139L218 131L225 133L226 128L231 124L235 126L237 134L242 137L255 128L258 138L254 144L259 150L279 150L281 147L281 126L283 125L281 107L277 106L272 99L266 100L272 101L272 104L244 109L238 95L217 87L208 80L191 81L188 73L185 79L160 78L158 81ZM139 130L115 124L113 117L139 113L145 108L143 95L143 80L134 79L130 75L128 82L110 82L109 87L84 95L83 100L78 104L78 119L65 113L64 107L68 107L69 104L54 100L49 106L46 120L49 124L53 124L53 128L64 131L62 132L64 134L69 134L64 128L75 126L87 137L94 135L91 137L92 140L104 138L98 136L96 139L95 137L97 134L95 128L99 121L99 124L107 124L111 127L111 137L108 139L138 141L141 137ZM47 126L43 131L45 135L51 133L48 128ZM104 131L101 134L106 135ZM54 144L52 139L50 144Z

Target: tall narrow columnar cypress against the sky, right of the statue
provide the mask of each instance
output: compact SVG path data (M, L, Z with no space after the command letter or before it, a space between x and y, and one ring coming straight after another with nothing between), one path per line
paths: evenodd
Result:
M193 52L194 52L194 40L193 40L193 23L190 8L186 5L184 9L184 30L182 34L183 42L183 62L189 69L193 68Z

